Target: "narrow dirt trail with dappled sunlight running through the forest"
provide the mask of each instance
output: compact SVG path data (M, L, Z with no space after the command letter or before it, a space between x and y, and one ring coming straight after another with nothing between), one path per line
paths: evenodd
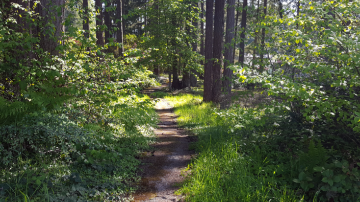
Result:
M160 88L144 91L151 93ZM154 132L158 137L154 151L143 154L144 165L139 175L142 180L140 189L134 195L134 202L177 202L181 196L174 192L184 180L181 170L186 168L193 152L189 151L191 138L179 130L175 122L172 107L165 99L155 106L160 116L159 129Z

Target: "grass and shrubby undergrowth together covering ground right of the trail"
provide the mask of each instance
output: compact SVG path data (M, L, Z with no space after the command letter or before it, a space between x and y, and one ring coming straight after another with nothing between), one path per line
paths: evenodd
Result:
M357 164L340 151L341 143L329 146L334 140L319 135L330 133L321 125L312 130L281 111L220 111L192 94L165 98L179 126L198 135L199 155L178 191L187 201L359 200Z

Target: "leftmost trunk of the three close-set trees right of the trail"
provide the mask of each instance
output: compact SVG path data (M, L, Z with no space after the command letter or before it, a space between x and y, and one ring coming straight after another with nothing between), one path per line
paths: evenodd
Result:
M212 100L212 34L213 34L214 0L206 0L206 27L205 27L205 65L204 65L204 96L203 102Z

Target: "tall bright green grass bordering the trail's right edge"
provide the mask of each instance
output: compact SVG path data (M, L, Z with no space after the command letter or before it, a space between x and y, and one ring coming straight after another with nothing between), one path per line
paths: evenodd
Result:
M239 151L238 137L217 121L213 105L192 94L168 96L180 126L197 130L199 156L189 165L191 175L178 191L191 202L298 202L301 195L263 172L266 157ZM220 119L221 120L221 119ZM255 171L254 171L255 170ZM261 175L260 175L261 174Z

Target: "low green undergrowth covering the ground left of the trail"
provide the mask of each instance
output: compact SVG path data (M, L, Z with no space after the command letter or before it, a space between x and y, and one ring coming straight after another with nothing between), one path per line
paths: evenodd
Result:
M0 167L0 201L131 201L137 155L154 142L158 116L142 95L108 109L89 117L64 108L2 126L0 154L9 163Z

